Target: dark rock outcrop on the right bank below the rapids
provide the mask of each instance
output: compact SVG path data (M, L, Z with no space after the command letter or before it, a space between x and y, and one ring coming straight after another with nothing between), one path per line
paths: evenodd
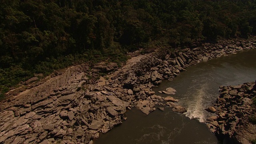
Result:
M214 107L217 116L211 116L206 124L210 130L227 144L250 144L256 140L256 124L250 118L256 118L255 82L238 86L220 87L220 96Z

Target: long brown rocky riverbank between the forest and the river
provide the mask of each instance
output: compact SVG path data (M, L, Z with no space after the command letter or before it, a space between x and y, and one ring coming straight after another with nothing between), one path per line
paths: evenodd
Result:
M170 96L173 89L162 91L166 97L161 97L154 95L152 88L164 79L172 80L190 65L255 46L256 38L251 38L179 51L134 52L122 68L115 63L82 64L39 81L33 78L8 92L8 99L1 102L0 144L92 144L100 132L121 124L131 107L149 114L156 104L168 105L183 113L186 109ZM102 72L108 75L98 77Z

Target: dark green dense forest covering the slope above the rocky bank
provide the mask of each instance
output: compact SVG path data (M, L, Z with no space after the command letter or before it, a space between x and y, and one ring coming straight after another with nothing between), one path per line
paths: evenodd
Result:
M0 95L35 73L256 34L256 0L1 0Z

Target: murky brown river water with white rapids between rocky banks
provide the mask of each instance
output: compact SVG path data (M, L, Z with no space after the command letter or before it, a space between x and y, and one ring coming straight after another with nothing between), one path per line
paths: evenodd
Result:
M127 120L100 138L94 144L219 144L208 127L202 123L210 116L204 110L218 97L218 86L230 86L256 80L256 50L244 50L207 62L190 66L172 81L163 81L154 88L172 87L179 104L187 108L177 114L164 107L148 116L133 108L125 113Z

